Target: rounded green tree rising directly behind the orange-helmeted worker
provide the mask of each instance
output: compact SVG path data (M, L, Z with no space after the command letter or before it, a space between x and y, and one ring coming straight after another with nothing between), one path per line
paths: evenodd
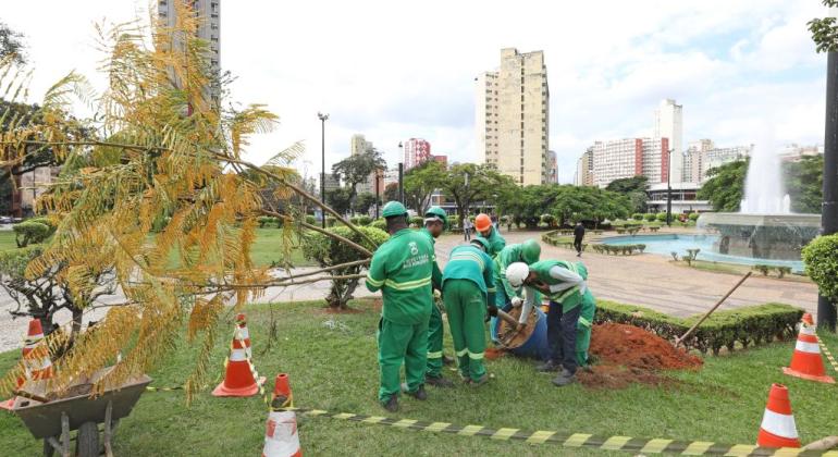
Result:
M444 176L442 189L457 206L459 226L463 226L466 209L471 207L472 201L491 199L494 194L515 186L512 177L502 175L493 166L485 164L452 165Z

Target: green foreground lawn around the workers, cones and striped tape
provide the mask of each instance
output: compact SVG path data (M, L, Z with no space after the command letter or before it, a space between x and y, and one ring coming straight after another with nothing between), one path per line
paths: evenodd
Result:
M375 400L379 312L372 300L355 301L354 307L360 312L330 314L315 302L249 307L248 323L260 374L272 379L278 372L289 373L297 407L383 416L385 411ZM263 354L271 316L279 339ZM224 337L215 345L219 371L229 344L227 329L230 323L224 325ZM838 353L838 338L824 339ZM445 343L451 353L447 334ZM800 436L809 443L835 434L838 387L784 375L780 367L789 362L793 342L777 343L708 358L701 371L673 373L680 381L677 385L634 385L621 391L590 391L578 384L557 388L550 383L550 376L533 371L531 361L507 356L488 362L495 375L488 385L429 387L427 402L403 397L400 410L394 416L493 429L747 444L756 440L772 382L782 382L791 391ZM194 353L194 348L182 344L150 373L155 379L152 385L182 382L192 369ZM0 372L17 357L17 350L0 355ZM452 379L454 374L446 372ZM256 397L214 398L205 392L186 407L182 393L148 392L131 417L120 423L114 452L130 456L258 455L266 418L266 407ZM304 418L299 436L308 455L603 454L322 418ZM5 412L0 413L0 443L4 455L38 455L41 449L41 443L29 435L22 422Z

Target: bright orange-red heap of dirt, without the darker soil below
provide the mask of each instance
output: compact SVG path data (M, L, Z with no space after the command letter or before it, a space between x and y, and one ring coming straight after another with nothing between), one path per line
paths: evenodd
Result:
M593 326L589 351L601 360L641 370L685 370L703 363L654 333L615 323Z

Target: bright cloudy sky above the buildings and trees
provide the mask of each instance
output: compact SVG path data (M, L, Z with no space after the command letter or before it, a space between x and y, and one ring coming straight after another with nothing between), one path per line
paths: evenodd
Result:
M25 34L32 102L70 70L97 74L104 53L95 24L147 18L148 1L10 2L0 21ZM230 1L221 0L221 65L236 77L232 100L266 103L275 132L254 138L262 163L294 141L304 175L366 135L393 166L398 143L431 143L448 161L478 162L475 77L500 65L502 48L543 50L550 84L550 149L559 181L594 140L652 134L663 98L683 106L685 147L822 144L826 55L806 22L817 0L614 1Z

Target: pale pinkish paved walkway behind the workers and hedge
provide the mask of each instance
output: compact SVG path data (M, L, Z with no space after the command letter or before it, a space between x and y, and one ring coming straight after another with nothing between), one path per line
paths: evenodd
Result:
M541 242L542 232L502 233L508 244L527 238ZM436 258L444 268L448 252L464 244L463 236L445 235L436 242ZM576 259L576 252L542 244L542 259ZM625 304L641 305L674 316L691 316L704 312L738 281L739 276L681 268L670 264L667 258L654 254L639 256L607 256L586 252L581 259L590 272L588 280L597 298ZM310 271L299 269L297 271ZM304 284L292 287L271 287L256 302L291 300L318 300L329 293L329 282ZM369 297L361 283L355 297ZM375 294L377 295L377 294ZM121 302L121 295L103 297L100 304ZM811 283L752 276L722 309L779 301L799 306L813 314L817 308L817 287ZM16 305L5 292L0 291L0 351L21 347L26 333L27 319L12 319L9 310ZM107 308L85 316L85 323L99 320ZM70 320L70 313L60 314L59 323Z

